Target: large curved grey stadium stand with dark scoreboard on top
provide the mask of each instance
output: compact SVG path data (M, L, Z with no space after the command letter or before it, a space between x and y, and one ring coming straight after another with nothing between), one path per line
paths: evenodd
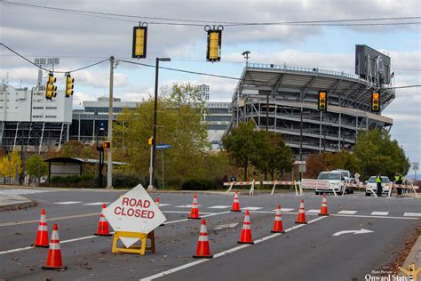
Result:
M392 126L393 120L381 111L395 97L390 58L357 45L355 70L346 74L250 63L234 90L226 133L252 120L258 130L282 133L297 157L351 150L359 131ZM371 112L374 89L381 92L378 114ZM326 112L318 110L319 91L327 92Z

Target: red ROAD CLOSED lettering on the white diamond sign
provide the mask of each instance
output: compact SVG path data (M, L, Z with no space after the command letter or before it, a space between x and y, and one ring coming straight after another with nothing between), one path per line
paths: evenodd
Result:
M114 213L116 215L129 216L143 219L153 219L154 211L147 210L151 205L149 200L123 197L121 206L116 206Z

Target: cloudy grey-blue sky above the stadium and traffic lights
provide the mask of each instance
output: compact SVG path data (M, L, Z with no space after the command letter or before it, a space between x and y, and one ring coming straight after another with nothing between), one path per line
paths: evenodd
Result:
M0 1L1 43L29 60L59 57L60 66L56 68L59 70L81 68L110 55L116 59L138 61L131 59L131 36L133 26L142 21L148 23L147 59L139 60L142 63L153 65L155 57L171 57L171 62L162 64L170 68L239 77L244 67L242 52L250 51L250 62L286 63L353 73L355 44L367 44L390 55L396 86L421 84L420 24L329 27L225 25L222 59L213 64L205 61L205 23L157 24L175 22L159 19L196 23L186 20L283 22L419 17L418 0L15 1ZM421 20L400 20L409 21ZM36 84L37 69L28 62L4 48L0 49L0 60L0 79L8 79L13 85ZM80 107L83 100L96 100L107 95L107 62L75 72L73 76L74 108ZM58 86L64 88L64 77L57 78ZM236 84L233 80L216 77L160 71L161 86L176 81L209 84L211 100L230 100ZM154 68L123 62L115 68L115 96L123 100L142 100L153 92L154 83ZM396 99L384 111L385 116L394 120L393 138L400 142L411 161L421 160L420 91L419 87L397 90Z

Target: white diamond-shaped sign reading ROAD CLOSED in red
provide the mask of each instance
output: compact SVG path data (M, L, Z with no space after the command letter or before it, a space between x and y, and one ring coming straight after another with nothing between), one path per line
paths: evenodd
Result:
M115 231L149 233L166 221L141 184L119 197L102 211ZM126 247L135 244L137 238L121 238Z

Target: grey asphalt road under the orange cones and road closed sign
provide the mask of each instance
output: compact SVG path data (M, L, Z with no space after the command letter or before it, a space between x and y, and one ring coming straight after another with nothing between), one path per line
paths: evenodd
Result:
M294 194L240 196L250 210L255 245L238 245L244 213L229 212L233 196L199 194L201 216L206 218L211 260L193 259L200 221L187 220L192 194L153 193L160 197L165 226L155 229L156 252L112 254L111 237L92 237L101 203L111 203L121 191L4 191L22 194L39 203L34 208L0 213L0 278L13 280L365 280L381 270L403 249L405 238L420 225L417 199L328 197L330 216L317 215L322 197L306 194L306 225L296 224L299 200ZM166 205L168 204L168 205ZM281 204L287 233L273 235L274 208ZM47 224L58 223L61 254L68 270L43 270L48 249L33 249L42 208ZM253 208L251 208L253 209ZM291 210L287 210L291 209ZM377 213L373 213L377 212ZM368 229L364 234L338 231Z

